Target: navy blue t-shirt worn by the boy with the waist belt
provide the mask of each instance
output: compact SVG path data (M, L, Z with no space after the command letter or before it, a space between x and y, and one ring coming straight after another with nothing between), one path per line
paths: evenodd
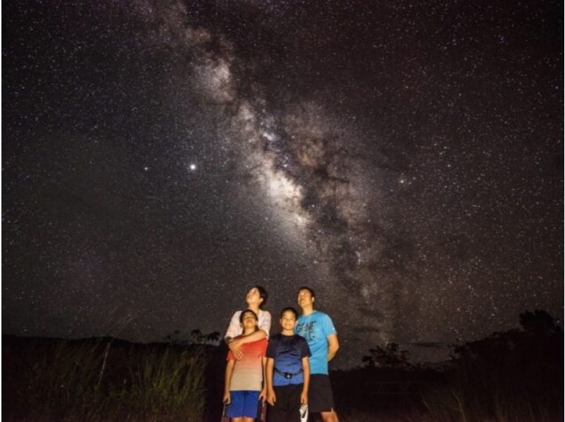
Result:
M290 378L285 378L276 370L273 370L273 385L281 387L283 385L302 384L304 373L302 372L302 358L310 356L310 350L304 337L297 334L283 335L276 334L269 339L267 346L267 357L275 359L275 368L283 373L293 374Z

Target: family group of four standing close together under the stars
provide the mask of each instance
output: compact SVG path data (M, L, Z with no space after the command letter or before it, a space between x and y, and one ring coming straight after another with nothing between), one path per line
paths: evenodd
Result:
M269 338L270 313L263 310L267 292L252 287L247 309L237 311L225 333L229 347L224 402L232 422L252 422L260 401L268 402L268 421L300 421L301 406L319 413L324 422L337 422L328 361L338 351L338 335L331 318L314 309L309 287L298 289L302 311L280 312L280 333Z

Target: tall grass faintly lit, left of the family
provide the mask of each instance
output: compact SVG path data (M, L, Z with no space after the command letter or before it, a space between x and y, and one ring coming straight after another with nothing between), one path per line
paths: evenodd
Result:
M7 420L202 420L203 346L61 340L3 347L3 361Z

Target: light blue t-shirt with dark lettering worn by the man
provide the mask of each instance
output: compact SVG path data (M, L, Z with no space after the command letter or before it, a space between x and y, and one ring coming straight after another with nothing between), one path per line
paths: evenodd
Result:
M308 342L310 373L328 375L328 336L338 333L329 315L320 311L300 315L295 332Z

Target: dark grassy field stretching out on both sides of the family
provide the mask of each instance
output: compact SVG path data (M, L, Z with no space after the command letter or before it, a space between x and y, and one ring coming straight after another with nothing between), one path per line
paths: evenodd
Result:
M5 421L219 421L225 346L2 337ZM331 374L342 422L563 421L563 332L511 331L443 370ZM313 418L314 419L314 418Z

